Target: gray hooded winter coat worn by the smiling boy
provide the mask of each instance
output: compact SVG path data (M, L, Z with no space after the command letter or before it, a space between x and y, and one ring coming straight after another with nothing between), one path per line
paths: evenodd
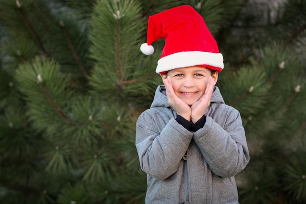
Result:
M239 204L234 176L249 162L240 113L215 87L205 114L204 127L188 131L175 120L165 87L157 87L136 124L146 204Z

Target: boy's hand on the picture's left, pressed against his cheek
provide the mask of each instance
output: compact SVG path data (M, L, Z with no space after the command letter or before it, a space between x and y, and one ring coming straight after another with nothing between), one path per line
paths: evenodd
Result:
M166 93L169 105L176 111L177 114L184 117L186 120L190 121L191 108L188 106L187 103L185 103L175 95L175 92L171 84L171 77L168 76L167 79L163 80L163 82L166 87Z

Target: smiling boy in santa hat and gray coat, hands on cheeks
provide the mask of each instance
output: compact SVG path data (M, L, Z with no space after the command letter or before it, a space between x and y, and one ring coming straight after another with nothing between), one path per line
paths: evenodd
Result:
M188 5L149 17L145 54L165 38L151 108L136 124L147 173L146 204L239 204L234 176L249 162L240 113L215 84L223 57L203 18Z

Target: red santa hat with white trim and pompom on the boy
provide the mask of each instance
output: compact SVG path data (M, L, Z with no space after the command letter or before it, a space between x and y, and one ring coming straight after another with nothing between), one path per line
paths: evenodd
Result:
M156 73L171 69L200 66L220 72L223 56L202 16L189 5L177 6L149 17L147 43L140 46L146 54L153 54L152 43L165 39Z

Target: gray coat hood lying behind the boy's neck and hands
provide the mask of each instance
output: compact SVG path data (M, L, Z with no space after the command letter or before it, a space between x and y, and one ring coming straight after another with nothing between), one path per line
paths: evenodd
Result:
M224 104L224 100L220 93L220 90L216 86L214 87L214 92L210 99L210 102ZM151 108L160 107L160 106L167 107L167 108L170 107L167 96L166 96L166 88L163 85L157 87Z

